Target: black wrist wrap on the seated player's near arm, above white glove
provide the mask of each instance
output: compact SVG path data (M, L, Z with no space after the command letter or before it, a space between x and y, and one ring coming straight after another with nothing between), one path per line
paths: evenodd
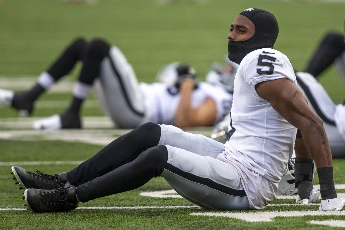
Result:
M327 200L337 198L337 193L335 191L333 181L333 168L318 168L317 175L319 177L321 199Z

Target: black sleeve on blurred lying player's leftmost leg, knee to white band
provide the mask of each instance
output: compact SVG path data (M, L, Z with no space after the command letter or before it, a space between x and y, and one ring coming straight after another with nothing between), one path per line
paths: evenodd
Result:
M51 65L47 72L55 81L59 80L72 70L78 60L84 58L87 47L88 42L85 39L78 38L74 40Z

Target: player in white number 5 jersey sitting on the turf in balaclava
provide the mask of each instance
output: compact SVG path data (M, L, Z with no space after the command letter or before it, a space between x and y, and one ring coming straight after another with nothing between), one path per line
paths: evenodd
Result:
M338 202L335 192L322 120L296 86L289 59L273 49L276 18L249 8L236 16L230 31L229 59L239 67L225 144L171 125L146 123L67 173L47 177L13 166L13 179L26 189L25 206L33 212L69 211L78 202L136 189L161 176L205 209L263 209L276 198L298 128L303 136L299 144L308 152L296 152L304 159L301 166L305 163L295 172L296 182L308 185L309 162L314 159L321 187L319 209L341 209L344 200Z

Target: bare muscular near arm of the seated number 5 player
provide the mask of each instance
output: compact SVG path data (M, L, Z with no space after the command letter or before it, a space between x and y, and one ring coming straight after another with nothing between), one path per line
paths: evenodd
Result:
M258 95L269 101L272 107L290 124L300 129L308 152L315 160L317 168L333 167L322 120L309 107L302 92L287 78L258 83ZM298 157L308 158L303 153Z

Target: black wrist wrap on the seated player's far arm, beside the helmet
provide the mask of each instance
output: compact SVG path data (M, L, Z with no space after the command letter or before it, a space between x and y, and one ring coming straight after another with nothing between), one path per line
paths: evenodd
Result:
M299 158L295 160L295 188L301 181L313 181L313 159Z

